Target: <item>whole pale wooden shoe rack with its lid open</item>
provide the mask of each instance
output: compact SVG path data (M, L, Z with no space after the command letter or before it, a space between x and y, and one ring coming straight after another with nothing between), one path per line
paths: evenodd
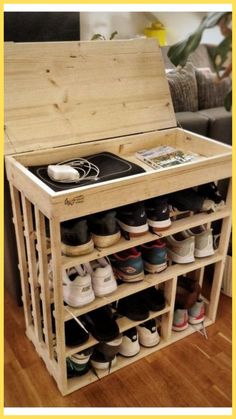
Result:
M156 235L148 232L131 240L121 238L108 248L67 257L61 253L62 221L231 178L231 147L176 127L161 52L155 40L7 44L5 116L5 163L26 334L63 395L98 379L91 371L67 379L66 357L97 343L90 337L84 345L66 347L64 323L72 318L71 313L79 316L153 285L164 288L165 308L150 313L150 318L160 321L161 342L154 348L142 348L133 358L118 356L110 373L196 331L196 326L179 333L171 330L176 281L181 274L194 271L202 283L204 268L214 265L205 325L215 321L231 232L231 181L226 205L219 211L177 219L161 232L165 237L222 220L219 246L213 256L190 264L171 265L159 274L146 275L142 282L124 283L109 296L97 297L83 308L70 308L70 313L63 304L62 268L155 240ZM155 171L135 158L136 151L159 145L192 151L201 155L201 159ZM54 192L28 170L32 165L102 151L142 165L145 173ZM49 288L49 254L53 291ZM55 306L55 335L51 303ZM118 323L121 332L138 324L125 317L119 318ZM98 372L99 378L107 374L108 371Z

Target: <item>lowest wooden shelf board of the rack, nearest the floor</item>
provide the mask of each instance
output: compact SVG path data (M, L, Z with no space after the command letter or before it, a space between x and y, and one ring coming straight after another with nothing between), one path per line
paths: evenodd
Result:
M208 327L212 324L212 320L210 320L209 318L205 319L205 327ZM141 347L140 352L135 355L132 358L125 358L121 355L117 356L117 362L116 364L111 368L110 372L106 371L97 371L97 375L96 376L93 371L89 371L88 373L86 373L84 376L82 377L74 377L74 378L70 378L68 380L68 387L67 387L67 392L66 394L72 393L75 390L78 390L94 381L97 381L100 378L103 378L123 367L126 367L129 364L132 364L133 362L138 361L139 359L150 355L153 352L157 352L160 349L163 349L164 347L171 345L172 343L185 338L186 336L191 335L192 333L195 333L197 330L201 329L201 324L200 325L189 325L187 329L183 330L182 332L172 332L170 339L168 340L161 340L160 343L157 346L154 346L152 348L144 348Z

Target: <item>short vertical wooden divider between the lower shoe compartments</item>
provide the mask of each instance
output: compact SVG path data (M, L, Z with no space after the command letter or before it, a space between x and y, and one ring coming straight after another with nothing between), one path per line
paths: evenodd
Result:
M177 277L169 279L164 284L164 295L167 303L170 305L170 311L162 316L161 319L161 336L164 340L170 339L173 313L175 305Z

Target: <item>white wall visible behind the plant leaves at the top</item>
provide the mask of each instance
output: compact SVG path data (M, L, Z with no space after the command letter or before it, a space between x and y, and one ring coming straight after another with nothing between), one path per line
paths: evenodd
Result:
M157 17L165 25L167 44L171 45L196 29L203 16L204 13L200 12L81 12L80 36L82 40L88 40L95 33L100 33L109 38L117 30L117 38L133 38L143 35L144 27ZM218 44L221 39L216 27L204 33L202 42Z

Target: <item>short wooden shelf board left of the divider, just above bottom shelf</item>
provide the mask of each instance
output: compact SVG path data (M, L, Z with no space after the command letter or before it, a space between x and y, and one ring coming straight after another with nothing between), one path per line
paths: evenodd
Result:
M166 314L170 311L170 306L166 305L165 308L159 311L150 311L149 317L145 320L154 319L156 317L162 316L162 314ZM120 317L116 320L118 323L120 332L124 332L125 330L131 329L131 327L138 326L140 323L143 323L143 320L141 321L133 321L128 319L127 317ZM90 335L89 340L85 342L83 345L79 345L76 347L67 347L66 348L66 357L71 356L73 354L76 354L77 352L81 352L84 349L90 348L91 346L94 346L98 343L98 341Z

